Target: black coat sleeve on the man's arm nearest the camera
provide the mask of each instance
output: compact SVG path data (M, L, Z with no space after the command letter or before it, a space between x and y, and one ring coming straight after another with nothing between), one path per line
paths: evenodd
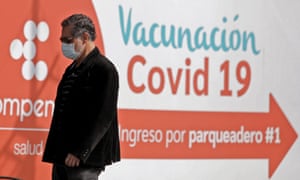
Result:
M119 78L111 64L94 66L90 71L92 96L88 101L87 133L78 142L74 154L86 162L117 117Z

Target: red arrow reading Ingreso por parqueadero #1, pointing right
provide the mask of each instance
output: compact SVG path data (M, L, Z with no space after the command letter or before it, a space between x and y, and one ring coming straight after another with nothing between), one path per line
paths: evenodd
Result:
M297 133L270 95L270 112L119 110L123 158L269 159L269 177Z

